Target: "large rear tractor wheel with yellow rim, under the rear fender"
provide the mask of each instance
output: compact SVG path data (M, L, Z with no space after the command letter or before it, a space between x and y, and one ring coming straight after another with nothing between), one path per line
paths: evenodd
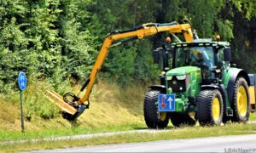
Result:
M244 94L241 95L242 93ZM242 99L243 96L245 99ZM233 102L231 106L233 109L233 117L231 118L232 122L248 121L248 118L250 116L249 92L248 92L247 81L243 77L239 77L236 80ZM243 108L241 107L244 107L245 110L243 110Z

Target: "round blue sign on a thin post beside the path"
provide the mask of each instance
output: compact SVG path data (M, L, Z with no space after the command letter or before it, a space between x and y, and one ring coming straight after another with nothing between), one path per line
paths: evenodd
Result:
M24 133L24 111L22 104L22 91L26 89L26 74L23 71L19 72L18 75L18 85L20 88L20 118L21 118L21 132Z

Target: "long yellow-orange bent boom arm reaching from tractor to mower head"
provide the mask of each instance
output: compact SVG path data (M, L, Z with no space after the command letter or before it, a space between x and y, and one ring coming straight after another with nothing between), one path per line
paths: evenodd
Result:
M183 37L185 38L186 42L193 41L193 33L189 24L172 26L154 26L154 24L144 24L142 29L113 34L105 38L100 53L96 59L96 63L90 73L90 82L88 84L88 87L86 88L84 97L82 99L79 99L78 104L82 105L85 101L88 101L91 89L96 79L96 73L102 67L103 61L108 54L108 48L111 46L113 41L129 37L137 37L139 39L143 39L143 37L152 36L163 31L169 31L170 33L183 33Z

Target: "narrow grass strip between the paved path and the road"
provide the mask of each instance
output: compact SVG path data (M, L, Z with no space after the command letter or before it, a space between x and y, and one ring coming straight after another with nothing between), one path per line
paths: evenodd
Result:
M229 123L220 127L181 127L162 130L160 133L125 133L109 137L97 137L91 139L43 141L39 143L5 144L0 145L3 151L24 151L67 148L74 146L96 145L96 144L119 144L146 142L160 139L189 139L220 135L238 135L256 133L253 124Z

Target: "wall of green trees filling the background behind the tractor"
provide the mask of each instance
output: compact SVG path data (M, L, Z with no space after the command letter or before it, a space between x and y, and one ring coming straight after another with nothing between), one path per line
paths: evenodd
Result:
M256 71L255 61L247 56L256 54L253 0L1 0L0 93L11 96L18 71L25 71L30 86L47 82L63 94L69 80L89 77L97 50L109 32L182 18L191 19L199 37L218 33L230 41L233 60L247 71ZM110 48L102 76L122 85L157 80L160 70L153 64L152 50L167 35ZM44 107L39 115L52 117L54 111L46 103Z

